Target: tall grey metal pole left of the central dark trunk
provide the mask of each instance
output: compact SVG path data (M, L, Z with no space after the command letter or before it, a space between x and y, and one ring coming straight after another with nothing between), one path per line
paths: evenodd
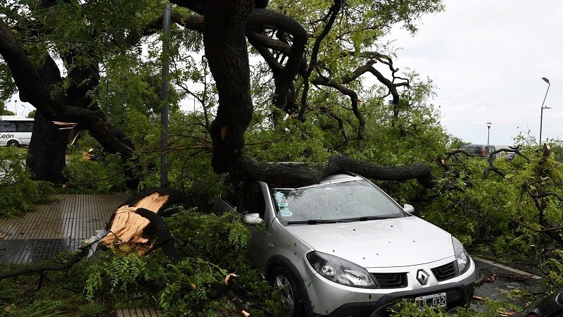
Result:
M163 15L163 87L160 100L163 101L163 107L160 111L160 187L168 187L168 36L170 35L170 3L166 4Z

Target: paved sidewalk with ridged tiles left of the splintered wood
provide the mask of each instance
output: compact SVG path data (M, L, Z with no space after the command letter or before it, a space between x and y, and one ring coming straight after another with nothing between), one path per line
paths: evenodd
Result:
M0 219L0 262L33 263L62 251L75 251L82 240L106 228L113 211L130 194L59 194L22 218Z

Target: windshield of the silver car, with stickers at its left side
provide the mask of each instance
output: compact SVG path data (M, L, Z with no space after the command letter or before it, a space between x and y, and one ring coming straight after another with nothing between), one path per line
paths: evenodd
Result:
M271 189L283 225L361 221L405 216L403 209L367 180L296 189Z

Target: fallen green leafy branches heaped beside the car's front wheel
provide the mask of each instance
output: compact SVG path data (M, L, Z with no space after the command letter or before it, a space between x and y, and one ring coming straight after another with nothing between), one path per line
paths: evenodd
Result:
M240 277L234 283L237 290L244 290L248 304L255 305L254 315L282 309L267 282L242 256L250 234L235 213L215 216L177 207L167 223L175 238L185 243L179 249L181 261L168 263L160 253L98 257L85 268L86 299L112 294L118 305L127 306L133 294L148 293L152 296L145 296L144 304L156 305L169 316L213 316L232 309L218 295L224 278L236 273Z

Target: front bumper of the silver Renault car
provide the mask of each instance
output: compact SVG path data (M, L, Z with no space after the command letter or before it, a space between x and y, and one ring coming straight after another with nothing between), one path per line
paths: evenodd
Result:
M451 261L451 259L439 262L447 261ZM470 267L465 273L450 280L438 282L434 275L431 275L426 285L423 286L417 282L415 272L419 268L424 268L427 272L430 272L431 267L438 265L441 265L441 263L400 268L403 271L408 271L408 285L403 288L365 289L347 287L315 274L305 280L303 291L308 293L314 316L386 316L386 309L392 306L393 302L443 292L446 293L448 308L469 304L475 288L475 264L473 260L471 260Z

